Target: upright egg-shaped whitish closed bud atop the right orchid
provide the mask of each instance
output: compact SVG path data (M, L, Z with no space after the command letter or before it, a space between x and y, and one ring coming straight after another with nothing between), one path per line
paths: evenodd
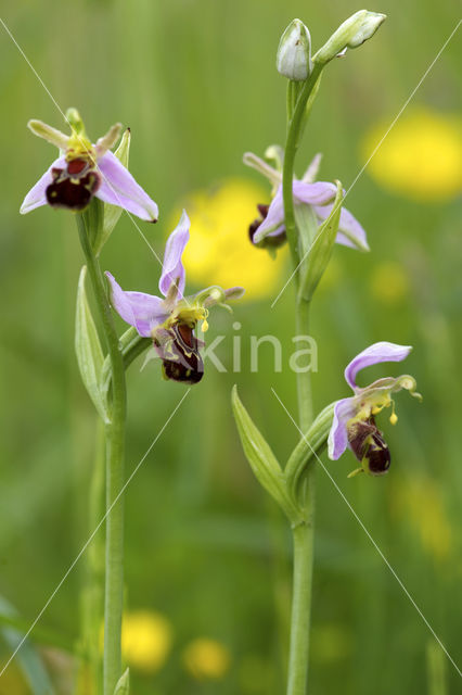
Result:
M293 20L281 37L275 59L278 72L301 81L311 72L311 37L300 20Z

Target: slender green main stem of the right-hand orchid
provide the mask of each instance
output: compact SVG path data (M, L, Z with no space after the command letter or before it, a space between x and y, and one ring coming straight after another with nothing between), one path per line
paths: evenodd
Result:
M300 249L295 220L293 179L295 155L300 132L306 121L306 108L310 94L318 85L322 66L315 64L313 71L303 86L292 117L288 122L284 153L282 194L284 201L284 224L296 270L298 290L298 266ZM296 330L306 334L309 326L309 302L299 299L296 292ZM303 432L307 432L312 420L311 376L307 371L297 374L298 419ZM315 466L309 466L305 479L305 518L293 528L294 576L292 593L291 644L288 653L287 695L305 695L308 678L308 646L311 616L311 583L313 563L313 515L315 515Z

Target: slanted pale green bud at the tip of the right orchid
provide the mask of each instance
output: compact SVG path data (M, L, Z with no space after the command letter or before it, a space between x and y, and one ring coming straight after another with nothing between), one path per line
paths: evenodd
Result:
M375 34L384 20L386 20L386 14L380 12L369 12L368 10L356 12L341 24L326 43L316 53L315 62L324 65L348 48L361 46Z

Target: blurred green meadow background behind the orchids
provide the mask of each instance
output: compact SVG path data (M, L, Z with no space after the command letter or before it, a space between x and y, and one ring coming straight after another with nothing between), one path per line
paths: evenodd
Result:
M261 154L283 142L285 84L274 53L287 23L304 20L318 48L357 9L337 0L24 0L5 5L2 18L60 106L78 106L90 134L100 136L115 121L131 127L130 169L162 213L157 226L140 225L161 254L167 220L182 199L227 177L258 181L243 167L242 153ZM321 177L348 187L364 162L364 132L393 121L458 20L450 0L384 0L371 9L388 20L371 42L330 66L299 153L299 174L321 150ZM48 208L18 215L53 155L26 122L64 124L1 26L0 39L0 594L28 627L88 538L95 426L73 348L81 265L74 220ZM455 113L460 58L459 33L412 103ZM414 345L405 370L418 379L424 403L402 395L398 426L384 420L394 457L385 478L347 480L355 465L350 454L326 465L458 660L460 211L452 198L433 202L389 192L368 172L347 206L368 230L372 253L338 247L320 288L311 327L319 344L316 404L348 394L346 363L377 340ZM243 235L249 222L242 219ZM127 289L156 288L157 263L125 215L102 263ZM293 294L287 290L271 309L273 296L236 305L234 319L215 315L210 339L228 336L218 352L229 367L232 320L243 325L243 370L208 369L125 495L127 609L161 614L172 634L155 672L132 665L138 695L284 692L290 535L248 469L230 410L230 389L238 382L285 459L297 433L270 388L295 414L294 375L286 361L274 374L269 350L253 374L246 354L249 334L274 333L290 349ZM162 381L158 368L139 366L129 372L127 475L183 393L181 386ZM454 668L439 658L442 652L418 610L321 470L318 485L310 693L458 692ZM78 637L86 557L31 635L53 678L62 672L56 693L72 691L65 683L68 655L56 652L54 635L63 643ZM8 635L3 660L11 654ZM214 640L226 655L215 679L188 669L184 649L197 637ZM30 691L20 666L14 662L0 678L2 695L49 692Z

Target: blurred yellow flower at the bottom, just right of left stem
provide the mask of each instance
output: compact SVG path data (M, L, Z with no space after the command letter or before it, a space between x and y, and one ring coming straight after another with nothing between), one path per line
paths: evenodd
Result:
M124 615L121 653L129 666L154 672L162 668L171 647L171 626L159 614L137 610Z

